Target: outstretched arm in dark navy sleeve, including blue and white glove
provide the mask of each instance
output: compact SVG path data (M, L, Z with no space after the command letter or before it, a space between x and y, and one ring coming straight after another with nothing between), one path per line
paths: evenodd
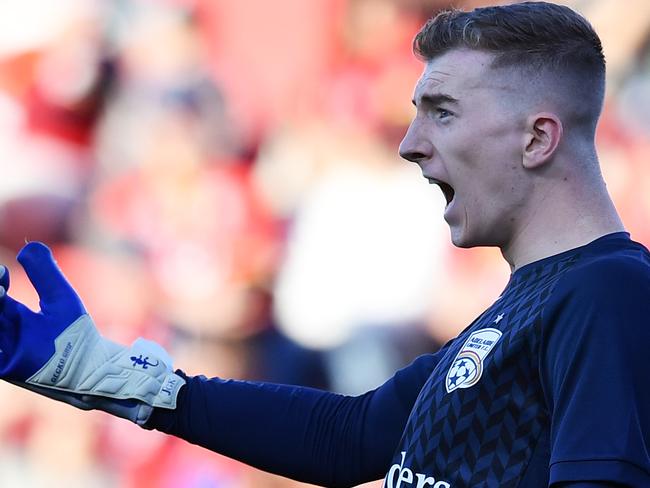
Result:
M33 312L0 290L0 377L85 410L99 409L257 468L326 486L388 469L435 364L418 358L358 397L310 388L187 377L159 345L103 338L50 250L19 253L40 297ZM0 288L9 288L5 268Z

